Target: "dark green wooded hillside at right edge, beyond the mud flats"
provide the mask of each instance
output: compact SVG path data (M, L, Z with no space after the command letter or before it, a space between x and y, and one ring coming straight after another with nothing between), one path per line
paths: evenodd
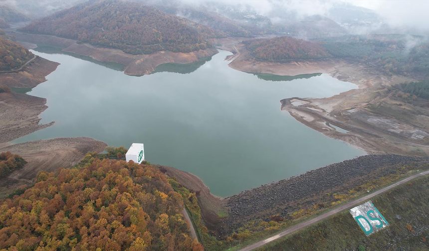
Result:
M421 36L350 35L319 39L334 57L371 63L378 70L429 77L429 43Z

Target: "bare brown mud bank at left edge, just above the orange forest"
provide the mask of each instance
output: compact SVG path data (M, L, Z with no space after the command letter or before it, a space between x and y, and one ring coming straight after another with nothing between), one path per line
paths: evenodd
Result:
M75 165L86 153L101 152L106 144L87 137L54 138L0 146L0 152L10 151L22 156L27 164L0 179L0 198L23 185L30 185L40 171L55 171Z

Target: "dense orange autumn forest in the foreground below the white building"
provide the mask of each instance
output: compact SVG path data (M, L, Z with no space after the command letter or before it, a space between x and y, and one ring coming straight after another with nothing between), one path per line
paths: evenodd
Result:
M183 200L149 164L87 154L0 205L0 249L201 251Z

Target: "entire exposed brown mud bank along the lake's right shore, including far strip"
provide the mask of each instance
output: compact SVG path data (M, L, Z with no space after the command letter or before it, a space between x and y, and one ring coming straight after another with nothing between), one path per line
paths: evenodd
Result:
M429 155L429 105L412 106L392 99L387 91L393 85L414 79L386 75L366 64L344 60L260 62L243 44L236 44L233 49L229 66L236 70L291 76L326 73L358 85L358 89L329 98L282 100L281 109L304 125L368 153Z

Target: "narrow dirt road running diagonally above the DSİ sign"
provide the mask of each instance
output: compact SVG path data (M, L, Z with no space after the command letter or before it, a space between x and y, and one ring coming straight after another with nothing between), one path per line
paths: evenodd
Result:
M278 234L276 234L274 236L266 238L265 240L259 241L257 243L252 244L252 245L249 245L249 246L247 246L245 248L242 248L242 249L240 249L240 251L251 251L251 250L260 248L260 247L266 245L267 243L270 243L270 242L275 241L275 240L277 240L279 238L282 238L282 237L284 237L286 235L292 234L292 233L297 232L297 231L299 231L299 230L301 230L303 228L306 228L306 227L308 227L310 225L318 223L318 222L322 221L323 219L326 219L326 218L328 218L328 217L330 217L330 216L332 216L334 214L337 214L337 213L339 213L339 212L341 212L343 210L346 210L348 208L351 208L354 205L361 204L362 202L364 202L364 201L366 201L366 200L368 200L368 199L370 199L370 198L372 198L374 196L377 196L377 195L379 195L381 193L384 193L384 192L386 192L386 191L388 191L388 190L390 190L392 188L395 188L395 187L397 187L399 185L402 185L402 184L404 184L404 183L406 183L406 182L408 182L410 180L413 180L413 179L415 179L417 177L420 177L420 176L423 176L423 175L427 175L427 174L429 174L429 171L425 171L425 172L421 172L421 173L418 173L418 174L414 174L414 175L412 175L412 176L410 176L410 177L408 177L406 179L398 181L398 182L396 182L396 183L394 183L394 184L392 184L390 186L387 186L385 188L382 188L382 189L380 189L380 190L378 190L378 191L376 191L374 193L368 194L368 195L366 195L366 196L364 196L362 198L353 200L353 201L348 202L348 203L346 203L346 204L344 204L344 205L342 205L342 206L340 206L338 208L332 209L331 211L328 211L328 212L326 212L326 213L324 213L322 215L319 215L316 218L313 218L313 219L307 220L305 222L302 222L300 224L297 224L295 226L292 226L292 227L290 227L290 228L288 228L286 230L283 230L282 232L280 232L280 233L278 233Z

